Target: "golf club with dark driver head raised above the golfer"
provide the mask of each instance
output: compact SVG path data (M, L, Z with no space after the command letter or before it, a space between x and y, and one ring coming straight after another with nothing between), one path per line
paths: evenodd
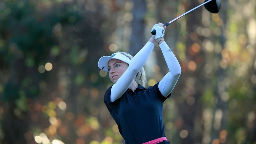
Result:
M200 6L204 5L205 9L211 13L218 13L220 11L220 0L205 0L203 4L196 6L195 8L189 10L188 12L183 13L182 15L178 16L177 18L167 22L164 24L166 27L175 20L183 17L184 15L188 14L189 12L194 11L195 9L199 8ZM156 35L156 30L151 31L152 35Z

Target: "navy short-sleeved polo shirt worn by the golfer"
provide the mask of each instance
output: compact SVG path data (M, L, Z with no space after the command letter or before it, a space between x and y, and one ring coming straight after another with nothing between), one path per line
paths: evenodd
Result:
M141 144L165 137L163 104L166 98L158 89L158 84L132 92L128 89L121 98L110 102L111 87L104 95L104 102L116 121L126 144Z

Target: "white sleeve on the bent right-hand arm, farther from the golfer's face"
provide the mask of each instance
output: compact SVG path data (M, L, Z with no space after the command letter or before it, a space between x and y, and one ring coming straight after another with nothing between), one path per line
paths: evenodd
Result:
M161 79L158 88L162 95L164 97L167 97L167 95L172 92L180 77L181 67L179 61L176 59L175 55L172 53L166 42L162 42L161 44L159 44L159 46L162 50L164 59L169 68L169 72Z

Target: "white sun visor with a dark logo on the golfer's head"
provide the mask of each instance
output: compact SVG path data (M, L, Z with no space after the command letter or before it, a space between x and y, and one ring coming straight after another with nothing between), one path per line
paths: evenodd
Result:
M117 60L122 60L128 64L130 64L131 60L126 57L125 55L121 54L121 53L114 53L111 56L103 56L100 58L99 62L98 62L98 67L101 70L107 71L108 72L108 61L112 60L112 59L117 59Z

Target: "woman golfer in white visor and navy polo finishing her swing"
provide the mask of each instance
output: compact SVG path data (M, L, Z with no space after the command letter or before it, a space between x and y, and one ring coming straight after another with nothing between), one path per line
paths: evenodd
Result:
M114 83L104 95L104 102L118 125L126 144L169 144L165 137L163 103L170 97L180 74L178 60L164 41L164 24L155 24L152 36L134 56L116 52L103 56L98 67L108 71ZM146 87L143 66L155 44L159 44L169 72L154 86Z

